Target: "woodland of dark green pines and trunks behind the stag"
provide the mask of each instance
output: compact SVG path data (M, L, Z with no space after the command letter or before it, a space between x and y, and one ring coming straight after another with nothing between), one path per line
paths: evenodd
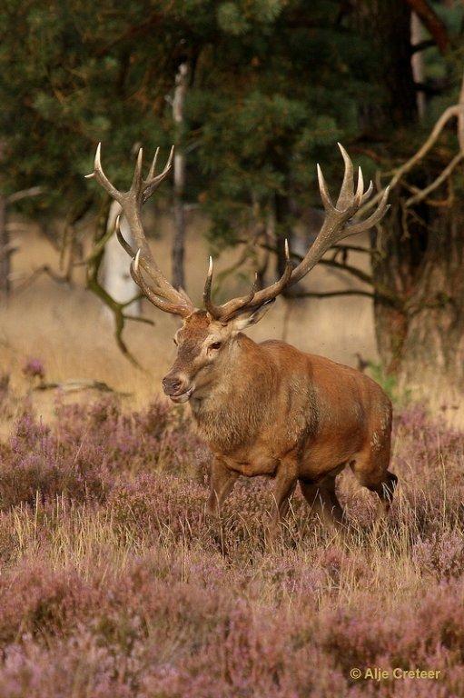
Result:
M377 346L364 358L409 389L459 393L463 9L425 0L7 0L0 15L3 298L14 302L31 281L21 269L30 245L15 234L20 215L58 252L50 264L47 250L35 249L32 264L23 264L34 279L44 271L71 285L86 264L84 283L113 306L123 336L123 312L104 290L117 301L132 297L108 279L118 264L126 274L127 262L114 261L110 244L102 273L110 202L83 176L99 141L120 185L130 181L140 145L146 154L159 145L162 155L176 145L175 184L147 205L148 227L159 236L160 215L172 221L163 263L171 248L173 281L188 286L186 234L197 246L206 236L215 254L235 251L233 267L226 265L235 284L256 267L270 280L285 237L304 252L321 215L315 165L339 185L339 140L379 191L392 181L392 205L370 240L350 239L327 255L324 268L344 283L313 285L311 295L371 299ZM330 314L343 305L325 307ZM350 346L351 362L362 349Z

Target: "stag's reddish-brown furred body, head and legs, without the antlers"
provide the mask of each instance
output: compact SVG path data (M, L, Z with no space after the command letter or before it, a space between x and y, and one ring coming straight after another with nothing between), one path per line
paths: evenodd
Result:
M348 366L275 340L256 344L240 332L264 312L229 322L191 314L176 335L179 353L163 381L175 402L190 399L214 454L210 511L218 510L239 475L271 475L275 523L297 482L311 506L341 523L334 483L347 464L388 511L396 483L388 471L388 396ZM218 342L220 348L212 347Z

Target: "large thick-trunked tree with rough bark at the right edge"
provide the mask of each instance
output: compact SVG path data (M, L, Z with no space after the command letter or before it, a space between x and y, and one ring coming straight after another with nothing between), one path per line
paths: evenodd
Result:
M384 39L389 35L396 37L395 42L382 42L380 36L375 37L380 52L380 84L387 87L383 100L377 103L379 119L375 126L382 125L382 135L388 143L388 150L377 146L377 151L381 169L398 170L390 196L390 216L381 233L372 235L372 246L377 252L372 255L377 342L384 366L403 383L429 384L433 380L445 388L462 389L464 286L459 270L464 262L464 234L459 221L464 201L459 195L462 172L458 166L462 159L462 125L457 138L456 130L454 136L449 133L449 119L445 119L447 128L439 131L439 148L426 148L420 155L430 120L437 118L437 109L443 108L443 97L433 100L428 95L424 123L418 127L414 114L417 85L407 65L407 56L413 51L410 5L401 6L399 0L358 3L361 31L362 21L369 20L370 27L378 27ZM433 37L440 51L446 48L445 32L442 25L438 37ZM448 75L443 82L449 85L448 92L456 95L461 75L453 65L453 57L449 55ZM400 77L393 72L395 66ZM420 89L424 88L427 85L420 85ZM448 95L446 99L449 100ZM458 105L454 116L459 115L459 110ZM459 117L459 123L463 117ZM396 134L391 131L392 125ZM436 145L433 138L431 145ZM414 150L419 150L419 156L411 158ZM409 165L401 168L399 158ZM412 164L420 166L413 168Z

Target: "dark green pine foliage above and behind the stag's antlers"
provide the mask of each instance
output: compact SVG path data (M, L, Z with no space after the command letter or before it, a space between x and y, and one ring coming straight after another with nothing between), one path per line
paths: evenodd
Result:
M319 204L316 162L329 180L341 174L335 142L363 137L360 107L385 89L376 45L344 7L338 0L5 0L2 189L42 185L45 194L25 204L35 213L97 205L102 192L83 175L98 141L108 174L123 186L135 145L148 154L176 140L170 97L186 60L186 197L211 215L215 244L256 224L276 196ZM447 21L457 35L459 11ZM433 50L428 61L430 75L452 70ZM369 175L374 165L360 157Z

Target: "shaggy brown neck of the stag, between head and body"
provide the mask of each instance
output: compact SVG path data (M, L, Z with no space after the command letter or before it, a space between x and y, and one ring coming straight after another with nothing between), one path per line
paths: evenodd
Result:
M191 401L202 437L224 454L252 442L271 409L275 382L261 346L239 334L212 383Z

